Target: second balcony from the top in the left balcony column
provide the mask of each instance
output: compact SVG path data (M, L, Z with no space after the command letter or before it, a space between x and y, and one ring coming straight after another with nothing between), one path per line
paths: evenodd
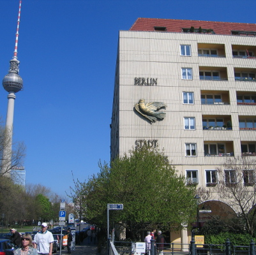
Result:
M228 80L227 68L200 66L199 79L215 81Z

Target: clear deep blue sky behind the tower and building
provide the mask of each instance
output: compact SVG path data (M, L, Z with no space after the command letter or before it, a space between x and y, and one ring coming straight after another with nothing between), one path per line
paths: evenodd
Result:
M138 17L255 23L255 0L22 0L14 139L26 182L66 198L75 179L110 159L117 39ZM13 57L19 0L0 0L0 78ZM1 79L2 79L1 78ZM6 118L8 93L0 89Z

